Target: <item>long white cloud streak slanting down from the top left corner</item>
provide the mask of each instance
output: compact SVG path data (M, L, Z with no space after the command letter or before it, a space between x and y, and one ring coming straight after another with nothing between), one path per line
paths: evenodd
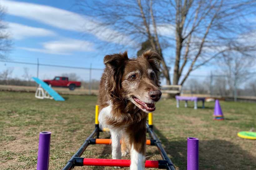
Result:
M7 13L10 15L25 17L65 30L91 33L102 41L122 45L127 45L127 42L135 44L129 36L107 27L100 31L92 32L91 30L98 28L101 23L98 21L93 22L85 16L74 12L27 2L0 0L0 3L7 7Z

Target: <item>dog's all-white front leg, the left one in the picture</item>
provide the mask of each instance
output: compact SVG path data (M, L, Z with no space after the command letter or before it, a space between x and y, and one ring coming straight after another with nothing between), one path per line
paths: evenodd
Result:
M120 144L120 138L121 133L120 131L116 129L111 129L111 139L112 139L112 158L113 159L121 159L121 144Z

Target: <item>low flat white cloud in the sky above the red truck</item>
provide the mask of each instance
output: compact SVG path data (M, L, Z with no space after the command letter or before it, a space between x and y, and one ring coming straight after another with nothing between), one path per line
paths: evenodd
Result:
M63 39L59 41L48 41L42 43L43 48L27 48L19 47L22 50L42 52L47 54L70 55L72 52L77 51L94 51L94 45L88 41Z

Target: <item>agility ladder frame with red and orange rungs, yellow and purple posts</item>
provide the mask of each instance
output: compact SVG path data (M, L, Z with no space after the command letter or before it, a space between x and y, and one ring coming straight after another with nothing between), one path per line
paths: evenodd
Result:
M95 109L95 129L85 140L82 146L78 151L71 157L67 162L66 166L62 170L71 170L75 166L111 166L111 167L129 167L130 160L124 159L97 159L97 158L81 158L81 155L85 151L88 145L92 144L111 144L111 139L99 139L100 132L109 131L109 129L100 129L98 121L98 105ZM163 160L145 161L145 168L159 168L159 169L168 169L175 170L175 167L168 157L165 149L163 148L160 140L156 136L153 130L153 115L149 113L147 132L149 133L150 139L146 140L147 145L156 146L160 152ZM44 135L45 136L42 136ZM39 137L39 149L38 149L38 158L37 158L37 170L48 170L49 164L49 152L42 153L43 150L49 151L50 149L50 132L40 133ZM96 137L96 138L94 138ZM121 141L120 141L121 142ZM187 170L198 170L198 142L197 138L187 138L188 151L187 151ZM43 148L43 149L42 149Z

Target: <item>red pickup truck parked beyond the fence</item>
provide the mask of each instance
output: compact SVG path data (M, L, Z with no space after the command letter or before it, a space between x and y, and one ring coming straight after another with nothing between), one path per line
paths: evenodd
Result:
M54 87L68 87L69 90L75 90L76 87L81 87L80 81L68 81L68 77L54 77L53 80L43 80L46 84Z

